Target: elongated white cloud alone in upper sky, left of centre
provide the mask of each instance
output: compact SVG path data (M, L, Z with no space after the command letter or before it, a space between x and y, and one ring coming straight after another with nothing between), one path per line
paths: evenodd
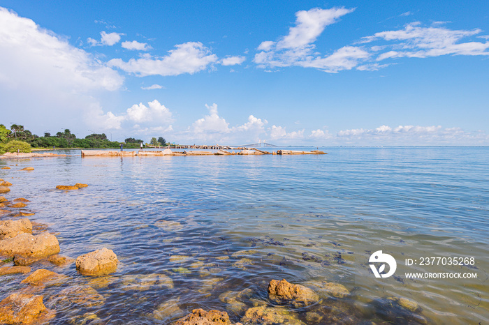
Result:
M112 59L108 65L122 69L126 73L145 77L148 75L193 74L204 70L218 60L217 56L200 42L188 42L175 45L175 47L175 50L168 51L167 56L152 57L147 54L140 59L130 59L128 62L122 59Z

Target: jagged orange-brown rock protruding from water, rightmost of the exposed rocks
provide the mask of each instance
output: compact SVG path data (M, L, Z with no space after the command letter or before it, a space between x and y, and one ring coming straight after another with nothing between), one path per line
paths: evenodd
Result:
M294 307L302 307L319 301L319 296L303 285L293 285L285 279L271 280L268 285L270 300L277 303L291 303Z

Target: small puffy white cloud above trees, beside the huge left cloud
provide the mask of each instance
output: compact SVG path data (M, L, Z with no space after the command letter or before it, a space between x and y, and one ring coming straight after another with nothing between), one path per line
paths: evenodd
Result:
M147 103L148 105L133 105L126 110L126 119L136 123L172 123L172 113L165 105L161 105L158 100Z

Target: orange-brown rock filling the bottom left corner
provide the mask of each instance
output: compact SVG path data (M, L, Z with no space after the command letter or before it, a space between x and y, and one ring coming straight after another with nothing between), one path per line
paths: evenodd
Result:
M43 296L10 294L0 302L0 324L41 323L54 317L43 304Z

